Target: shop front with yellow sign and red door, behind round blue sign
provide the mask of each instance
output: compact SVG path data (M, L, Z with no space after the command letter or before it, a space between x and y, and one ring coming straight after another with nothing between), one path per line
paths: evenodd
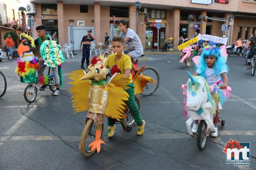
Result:
M146 49L157 48L157 23L161 23L161 28L159 29L159 48L162 48L164 45L167 21L150 19L148 25L146 26Z

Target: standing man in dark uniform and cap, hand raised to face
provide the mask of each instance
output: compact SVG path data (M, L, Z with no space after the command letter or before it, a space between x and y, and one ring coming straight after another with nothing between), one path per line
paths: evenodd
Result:
M90 45L91 42L95 39L91 34L92 30L87 30L87 36L84 36L80 42L80 51L82 51L81 46L83 45L83 54L82 54L82 61L81 61L81 68L84 69L84 60L86 58L86 65L88 67L90 62Z

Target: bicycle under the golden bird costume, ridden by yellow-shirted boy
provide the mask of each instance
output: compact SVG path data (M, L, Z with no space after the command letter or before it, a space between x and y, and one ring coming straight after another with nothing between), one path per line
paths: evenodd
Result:
M137 106L140 110L140 99L137 96L134 96L134 97L135 97L135 102L137 103ZM129 111L129 109L125 112L125 116L127 116L127 118L120 119L120 122L116 121L115 124L121 124L125 132L131 132L132 127L135 124L135 121L131 116L131 112ZM94 125L93 119L87 118L85 122L84 130L82 132L81 139L80 139L80 150L84 156L91 156L96 151L96 149L91 151L89 147L89 144L95 141L96 129L101 130L100 139L102 139L104 125L103 124Z

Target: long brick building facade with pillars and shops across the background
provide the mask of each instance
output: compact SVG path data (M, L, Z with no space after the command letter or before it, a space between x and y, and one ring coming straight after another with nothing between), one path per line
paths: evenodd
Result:
M136 0L30 0L36 4L35 26L44 24L47 33L57 32L60 44L69 43L69 27L74 26L75 50L87 29L93 30L97 42L104 42L105 32L111 23L125 19L128 27L136 31ZM159 29L159 47L169 37L192 38L194 32L229 38L228 44L237 37L247 39L256 29L255 0L141 0L138 35L144 48L157 48L156 23ZM114 22L115 21L115 22ZM226 31L222 31L226 25ZM35 28L34 28L35 29ZM37 37L34 31L34 36Z

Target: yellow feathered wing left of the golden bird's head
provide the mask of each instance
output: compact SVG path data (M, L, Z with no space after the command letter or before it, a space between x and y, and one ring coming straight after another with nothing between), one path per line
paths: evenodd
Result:
M90 82L88 79L79 80L84 76L84 71L72 71L69 76L69 79L73 80L72 82L69 82L69 84L72 85L70 88L70 94L73 94L71 98L73 99L72 102L75 113L88 110Z

